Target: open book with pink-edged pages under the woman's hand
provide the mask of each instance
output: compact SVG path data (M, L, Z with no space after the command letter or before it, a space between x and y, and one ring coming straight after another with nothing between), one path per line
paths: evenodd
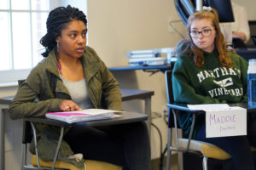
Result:
M84 121L95 121L102 119L111 119L119 117L115 115L114 112L104 109L86 109L82 111L62 111L62 112L49 112L46 113L46 117L49 119L55 119L63 122L73 123L73 122L84 122Z

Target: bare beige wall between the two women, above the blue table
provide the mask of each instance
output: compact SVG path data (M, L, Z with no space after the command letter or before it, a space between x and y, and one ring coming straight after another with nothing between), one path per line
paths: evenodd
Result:
M168 20L179 20L172 0L88 0L87 12L89 45L110 67L127 65L129 50L172 47L179 39L168 32Z

